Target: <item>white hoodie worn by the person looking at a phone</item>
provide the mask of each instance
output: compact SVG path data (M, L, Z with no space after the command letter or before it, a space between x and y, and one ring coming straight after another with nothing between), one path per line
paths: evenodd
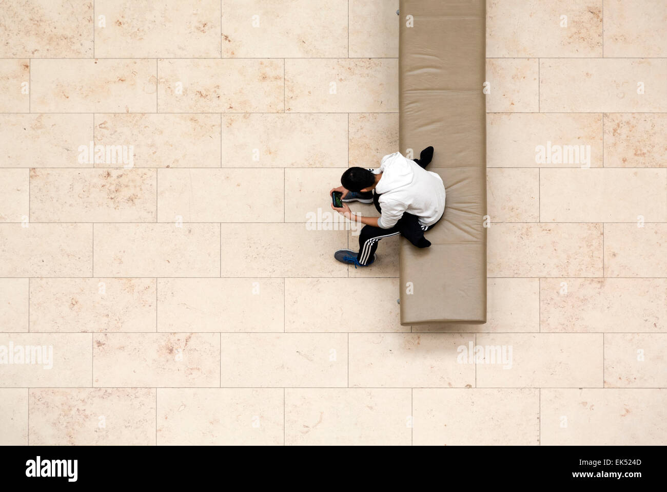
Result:
M389 229L403 216L404 212L419 217L422 226L438 222L445 211L445 186L438 174L421 168L400 152L384 156L380 168L373 174L382 173L376 186L380 194L382 216L378 226Z

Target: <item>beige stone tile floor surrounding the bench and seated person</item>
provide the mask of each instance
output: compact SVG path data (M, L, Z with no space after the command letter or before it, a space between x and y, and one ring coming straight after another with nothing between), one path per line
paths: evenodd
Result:
M412 328L327 197L396 9L2 3L1 444L667 440L667 2L487 2L488 323Z

